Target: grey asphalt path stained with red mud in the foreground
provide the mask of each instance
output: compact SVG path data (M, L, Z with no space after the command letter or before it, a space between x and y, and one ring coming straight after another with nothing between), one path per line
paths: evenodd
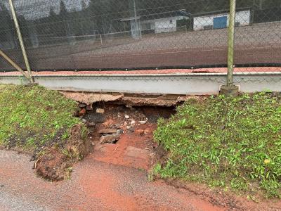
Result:
M0 151L0 210L221 210L145 171L107 164L91 155L72 178L51 183L36 177L30 157Z

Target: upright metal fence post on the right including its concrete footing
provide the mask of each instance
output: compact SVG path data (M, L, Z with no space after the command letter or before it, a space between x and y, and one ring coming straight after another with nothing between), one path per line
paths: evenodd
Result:
M224 94L226 96L237 96L238 94L238 87L233 85L235 12L236 0L230 0L230 14L228 24L228 77L226 86L222 86L220 91L221 94Z

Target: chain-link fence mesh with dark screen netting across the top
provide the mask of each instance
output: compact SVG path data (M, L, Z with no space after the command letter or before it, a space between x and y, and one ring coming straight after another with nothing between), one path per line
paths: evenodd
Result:
M229 0L13 0L34 71L227 72ZM235 72L281 72L280 0L237 0ZM0 49L25 69L8 0ZM0 58L0 71L13 68Z

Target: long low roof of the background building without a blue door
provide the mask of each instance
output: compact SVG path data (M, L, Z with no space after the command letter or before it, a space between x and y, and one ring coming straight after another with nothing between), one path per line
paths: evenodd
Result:
M137 19L140 20L157 20L162 18L173 18L173 17L190 17L190 13L186 12L184 9L179 11L168 11L163 13L153 13L148 15L141 15L138 16ZM121 21L127 21L127 20L135 20L135 17L129 17L129 18L122 18Z

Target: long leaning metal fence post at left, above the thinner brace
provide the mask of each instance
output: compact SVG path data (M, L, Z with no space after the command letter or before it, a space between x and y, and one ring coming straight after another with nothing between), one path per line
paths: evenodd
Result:
M25 51L25 44L22 40L22 33L20 32L20 26L18 25L18 18L17 18L17 15L15 14L15 7L13 6L13 0L9 0L9 4L10 4L10 7L11 7L11 12L12 12L12 15L13 15L13 21L15 23L15 29L17 31L17 34L18 34L18 39L20 41L20 48L22 49L22 56L25 60L25 66L27 68L27 72L29 74L29 78L30 78L30 82L34 83L34 79L32 77L32 72L31 72L31 68L30 68L30 63L28 61L28 58L27 58L27 53Z

